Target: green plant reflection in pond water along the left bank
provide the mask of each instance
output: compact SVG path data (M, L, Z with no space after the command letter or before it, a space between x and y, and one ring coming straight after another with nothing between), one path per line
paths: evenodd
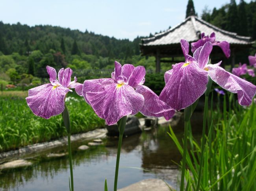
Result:
M104 146L91 147L87 151L73 153L74 167L80 164L92 161L102 160L102 156L108 158L108 151ZM37 178L53 178L59 172L69 170L68 156L61 158L46 158L39 156L33 159L34 164L30 167L19 169L8 169L0 172L0 190L10 190L23 186L26 182L36 180ZM41 176L41 177L40 177ZM63 180L66 181L66 180Z

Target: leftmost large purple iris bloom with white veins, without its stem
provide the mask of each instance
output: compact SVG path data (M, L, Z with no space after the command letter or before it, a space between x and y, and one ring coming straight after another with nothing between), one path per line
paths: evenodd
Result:
M33 114L49 119L51 116L59 115L64 111L66 95L75 88L78 95L82 96L82 84L71 81L72 69L61 68L58 73L53 67L46 66L47 73L50 76L50 84L40 85L28 90L26 101Z

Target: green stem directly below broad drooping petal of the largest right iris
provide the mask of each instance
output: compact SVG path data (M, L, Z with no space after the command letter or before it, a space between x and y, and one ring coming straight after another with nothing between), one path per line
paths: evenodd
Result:
M188 106L184 109L184 147L183 147L183 157L182 157L182 171L180 180L180 191L184 190L184 178L186 170L186 157L187 157L187 136L188 136L188 126L189 120L193 112L193 106Z

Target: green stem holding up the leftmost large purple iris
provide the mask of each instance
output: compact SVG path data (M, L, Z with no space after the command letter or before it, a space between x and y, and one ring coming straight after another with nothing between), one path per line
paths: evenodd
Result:
M64 125L68 134L68 149L69 149L69 168L70 168L70 179L71 179L71 191L74 191L74 181L73 181L73 167L72 167L72 154L71 154L71 141L70 141L70 120L69 120L69 111L65 105L64 111L61 113Z

